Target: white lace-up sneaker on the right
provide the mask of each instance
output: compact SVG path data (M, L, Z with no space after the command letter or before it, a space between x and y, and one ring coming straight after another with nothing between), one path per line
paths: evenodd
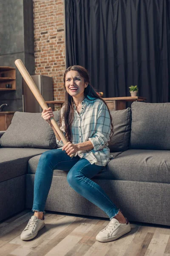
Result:
M130 230L129 221L127 221L127 224L122 224L116 218L112 218L108 226L97 234L96 240L99 242L113 241L130 232Z

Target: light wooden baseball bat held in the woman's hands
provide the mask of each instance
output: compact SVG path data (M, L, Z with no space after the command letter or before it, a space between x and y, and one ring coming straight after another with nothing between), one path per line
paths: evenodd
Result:
M37 99L38 103L40 104L41 108L44 109L48 109L47 104L45 103L45 100L43 99L40 91L38 90L36 84L34 83L33 79L31 78L30 74L28 73L26 67L23 64L23 61L21 61L20 59L17 59L15 61L15 65L17 66L18 70L20 71L21 75L23 76L23 79L26 81L26 83L28 84L31 92L34 94L35 98ZM66 143L68 143L68 141L66 140L66 138L64 137L64 134L62 133L62 131L59 129L59 126L57 125L56 120L54 119L54 117L50 118L50 121L54 127L54 129L56 130L57 134L59 134L59 137L61 138L62 142L64 143L64 145ZM75 153L71 154L70 157L74 157Z

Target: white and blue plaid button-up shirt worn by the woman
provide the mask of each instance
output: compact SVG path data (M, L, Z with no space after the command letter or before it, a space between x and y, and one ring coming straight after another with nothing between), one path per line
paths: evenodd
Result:
M90 96L88 96L90 99ZM61 114L63 113L63 106ZM62 121L60 127L65 136L65 123ZM82 101L82 110L77 112L74 104L74 121L72 124L73 144L82 143L90 140L94 145L93 149L77 151L79 157L86 158L91 164L95 163L99 166L106 166L113 155L110 155L108 148L108 140L111 134L111 119L107 106L101 99L94 99L93 101L85 98ZM58 140L58 145L63 146L62 140ZM59 148L58 148L59 149Z

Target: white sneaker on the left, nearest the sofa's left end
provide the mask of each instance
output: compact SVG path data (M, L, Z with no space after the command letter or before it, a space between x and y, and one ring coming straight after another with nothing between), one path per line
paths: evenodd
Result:
M39 219L37 216L32 216L29 219L28 224L20 235L22 240L30 240L37 236L39 230L45 226L44 216L43 219Z

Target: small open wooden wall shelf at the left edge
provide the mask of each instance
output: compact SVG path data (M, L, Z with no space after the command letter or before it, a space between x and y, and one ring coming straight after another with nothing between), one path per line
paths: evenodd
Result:
M6 88L11 84L12 88ZM16 70L14 67L0 66L0 91L16 90Z

